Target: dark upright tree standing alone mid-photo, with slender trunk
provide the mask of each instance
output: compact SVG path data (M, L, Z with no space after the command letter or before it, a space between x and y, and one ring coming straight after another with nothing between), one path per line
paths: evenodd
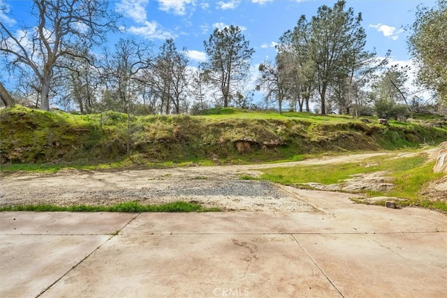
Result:
M233 25L214 29L203 45L208 57L202 64L205 80L219 89L223 107L228 107L230 99L242 89L240 84L249 77L254 49L245 40L240 27Z

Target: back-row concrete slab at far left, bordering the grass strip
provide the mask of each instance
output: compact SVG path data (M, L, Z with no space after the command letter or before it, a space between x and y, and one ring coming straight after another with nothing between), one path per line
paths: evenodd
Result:
M137 215L105 212L0 212L0 233L112 234Z

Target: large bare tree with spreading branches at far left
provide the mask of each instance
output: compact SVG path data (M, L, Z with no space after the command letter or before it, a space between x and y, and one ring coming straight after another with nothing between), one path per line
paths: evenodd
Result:
M117 16L105 0L34 0L35 23L20 36L0 22L0 52L8 67L29 68L35 76L33 88L41 96L41 109L50 110L50 88L61 57L79 56L73 45L99 44L105 33L115 30Z

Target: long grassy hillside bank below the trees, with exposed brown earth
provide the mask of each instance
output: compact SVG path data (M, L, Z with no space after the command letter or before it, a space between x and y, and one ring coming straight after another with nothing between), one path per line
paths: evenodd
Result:
M129 126L128 126L129 124ZM447 140L446 121L390 121L217 109L205 116L0 111L0 163L171 165L298 160L305 154L420 147ZM127 156L129 140L130 156ZM6 165L6 166L5 166Z

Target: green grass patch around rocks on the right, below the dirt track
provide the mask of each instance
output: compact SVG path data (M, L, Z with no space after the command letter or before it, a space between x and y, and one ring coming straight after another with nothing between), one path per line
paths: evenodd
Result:
M447 211L444 202L425 200L420 191L444 174L432 171L434 162L427 163L425 154L413 157L390 158L379 156L362 163L344 163L334 165L305 165L296 167L277 167L262 170L261 179L285 185L316 182L320 184L337 184L349 179L353 174L367 174L377 171L387 171L393 177L395 187L390 191L366 191L369 196L391 196L404 198L406 206L420 206L430 209Z

